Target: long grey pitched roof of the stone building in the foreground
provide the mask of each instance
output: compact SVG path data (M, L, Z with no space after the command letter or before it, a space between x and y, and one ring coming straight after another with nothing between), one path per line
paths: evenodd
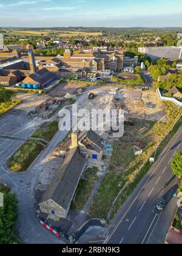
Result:
M83 172L86 158L79 153L79 149L70 149L57 174L42 197L42 202L52 199L65 210L75 194L79 179Z

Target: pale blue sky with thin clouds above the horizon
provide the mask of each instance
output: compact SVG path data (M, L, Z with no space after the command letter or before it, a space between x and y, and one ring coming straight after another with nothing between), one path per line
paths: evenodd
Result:
M181 0L0 0L0 27L181 27Z

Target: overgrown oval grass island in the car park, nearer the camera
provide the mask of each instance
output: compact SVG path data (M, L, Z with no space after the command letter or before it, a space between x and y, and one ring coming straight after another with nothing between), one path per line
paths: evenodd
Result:
M42 151L43 144L37 140L27 140L16 155L8 159L8 166L14 172L25 171Z

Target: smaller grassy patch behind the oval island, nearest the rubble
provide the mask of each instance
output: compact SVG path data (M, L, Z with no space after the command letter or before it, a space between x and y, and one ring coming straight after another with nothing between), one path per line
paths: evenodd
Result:
M52 123L47 124L44 123L40 129L33 133L32 137L51 140L55 136L56 132L58 132L58 129L58 121L53 121Z

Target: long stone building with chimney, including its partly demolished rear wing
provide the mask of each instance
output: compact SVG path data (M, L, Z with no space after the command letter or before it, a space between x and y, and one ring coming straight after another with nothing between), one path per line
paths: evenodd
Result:
M90 130L72 133L71 138L62 143L58 150L64 160L39 202L41 212L55 221L67 218L87 158L101 160L104 146L99 136Z

